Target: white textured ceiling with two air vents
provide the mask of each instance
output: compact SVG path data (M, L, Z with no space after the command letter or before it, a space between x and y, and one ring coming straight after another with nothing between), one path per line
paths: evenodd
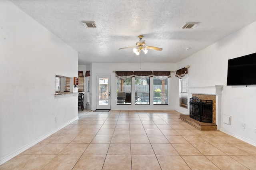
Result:
M256 21L256 0L10 0L78 51L78 64L176 63ZM81 21L95 21L85 28ZM181 29L199 22L194 29ZM130 49L143 35L148 49ZM186 47L191 47L185 50Z

